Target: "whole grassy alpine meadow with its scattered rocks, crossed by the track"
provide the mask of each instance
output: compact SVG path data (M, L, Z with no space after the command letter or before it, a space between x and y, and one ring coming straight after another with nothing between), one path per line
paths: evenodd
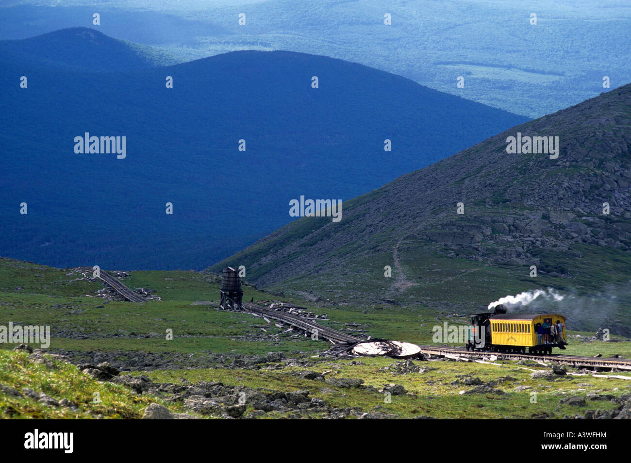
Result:
M425 262L428 272L434 264ZM50 327L44 348L14 351L16 343L0 344L3 418L136 419L155 404L189 419L556 419L618 413L631 391L631 381L621 378L631 372L594 377L567 368L575 375L533 378L546 366L322 356L331 347L327 341L220 310L221 278L212 273L131 271L124 284L162 299L145 303L102 298L102 283L71 269L0 259L0 278L0 325ZM288 291L290 296L247 283L243 288L244 300L293 302L327 314L322 324L362 329L373 338L433 345L435 327L468 322L466 310L432 307L431 297L362 305L334 295L315 298L321 292L310 293L312 288ZM569 331L568 349L560 353L631 357L631 341L592 336ZM103 373L108 368L117 371Z

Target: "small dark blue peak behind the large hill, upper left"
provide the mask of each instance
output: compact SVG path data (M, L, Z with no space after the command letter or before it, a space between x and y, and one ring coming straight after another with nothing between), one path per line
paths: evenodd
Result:
M102 72L131 71L177 62L161 50L117 40L86 27L57 30L24 40L0 40L0 60L8 65L19 63Z

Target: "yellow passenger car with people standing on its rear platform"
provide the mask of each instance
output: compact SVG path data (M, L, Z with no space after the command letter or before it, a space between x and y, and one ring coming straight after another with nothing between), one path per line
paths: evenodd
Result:
M565 349L565 317L558 314L500 314L490 317L491 343L493 350L552 353L553 347ZM562 324L560 336L552 336L545 327ZM542 327L540 330L539 327ZM543 333L540 333L543 331Z

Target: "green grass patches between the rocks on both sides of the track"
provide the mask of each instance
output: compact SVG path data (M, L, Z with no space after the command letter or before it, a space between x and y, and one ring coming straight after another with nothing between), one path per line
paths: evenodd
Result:
M402 259L404 272L416 269L423 274L425 284L406 290L410 297L392 295L401 305L386 302L363 303L352 291L344 295L348 301L338 306L321 305L305 302L299 298L286 297L283 300L295 300L317 314L328 314L329 321L323 321L337 329L345 323L359 323L372 337L398 339L416 344L432 344L432 327L442 325L447 320L450 324L466 324L468 307L463 305L458 314L448 310L430 308L432 303L444 296L444 291L454 285L475 287L469 279L485 278L490 286L502 279L497 269L475 269L475 265L462 259L449 272L443 270L444 257L439 254L425 254L423 259ZM382 274L382 262L375 259L367 267L369 272ZM380 267L381 266L381 267ZM435 271L438 269L439 271ZM394 270L394 269L393 269ZM131 272L123 281L131 288L144 287L156 290L162 301L146 303L106 302L101 298L90 297L102 284L77 281L68 283L78 276L66 276L68 271L59 271L51 267L37 266L25 262L0 260L0 319L6 322L50 325L53 333L71 333L71 336L53 334L50 349L69 349L72 351L136 351L151 353L179 353L193 358L216 353L246 356L265 355L269 351L282 351L286 356L309 357L330 347L325 341L311 341L309 338L274 337L264 341L248 340L249 335L262 332L259 327L266 325L264 320L252 315L225 312L208 305L191 305L196 300L218 300L220 278L215 274L192 271L147 271ZM357 278L362 274L357 273ZM396 278L396 275L394 276ZM444 281L444 280L447 281ZM384 278L385 280L385 278ZM300 282L293 283L295 291L314 290L319 295L330 294L332 300L339 300L336 291L327 286L327 279L321 278L312 286L300 287ZM374 283L374 284L389 284ZM514 289L519 287L519 280L514 280ZM22 289L16 289L16 288ZM290 288L291 289L291 288ZM47 292L47 291L50 291ZM276 298L244 285L245 300L266 300ZM289 293L290 291L286 291ZM469 296L475 292L469 291ZM480 296L481 297L481 296ZM174 330L174 339L167 341L167 329ZM281 330L273 324L266 327L270 334ZM74 333L74 335L73 335ZM80 333L86 339L76 339ZM124 337L107 337L124 334ZM595 342L582 343L575 334L589 337L591 332L569 331L570 345L567 353L574 355L603 357L622 355L631 358L631 342ZM613 341L619 341L616 336ZM50 370L45 365L33 363L23 352L13 352L13 344L0 345L0 384L20 390L30 387L37 392L45 392L57 400L68 399L79 407L72 413L64 407L48 407L32 399L15 399L0 394L0 410L3 418L139 418L144 407L151 401L158 401L148 396L137 397L122 386L95 382L83 375L74 366L55 362L56 368ZM33 346L33 347L38 347ZM481 365L478 363L455 362L416 362L419 366L430 366L438 370L410 375L393 375L379 369L394 363L389 358L358 358L350 360L322 360L313 358L304 368L288 367L285 364L274 366L273 370L227 369L221 365L215 368L156 370L152 372L134 372L148 374L156 382L180 384L180 378L187 378L196 383L203 380L221 381L224 384L261 387L268 390L310 390L311 397L323 399L329 407L360 407L363 411L382 411L394 413L401 418L428 415L435 418L532 418L543 413L554 413L554 418L563 415L583 414L586 409L607 408L610 402L587 402L586 406L570 407L561 404L563 397L584 395L587 392L607 392L621 394L630 388L630 382L624 380L594 378L591 376L564 377L555 382L532 380L529 370L519 368L512 362L501 366ZM277 369L278 368L278 369ZM532 368L542 368L533 366ZM326 377L362 378L365 384L377 389L389 383L402 384L414 396L392 396L392 402L384 402L384 394L363 389L341 389L332 385L297 378L292 375L300 369L327 372ZM631 375L631 373L623 373ZM505 392L502 395L475 394L461 395L461 390L471 387L452 385L457 375L479 377L483 382L497 380L510 375L516 382L498 384L496 387ZM539 385L541 384L541 386ZM588 384L587 386L585 384ZM528 385L533 389L515 392L516 385ZM548 386L551 386L548 388ZM530 392L538 392L536 404L530 402ZM99 392L101 404L91 402L93 392ZM173 411L182 411L178 406L169 405ZM266 418L278 417L278 412L266 414ZM310 415L305 415L310 416ZM313 416L317 418L317 414Z

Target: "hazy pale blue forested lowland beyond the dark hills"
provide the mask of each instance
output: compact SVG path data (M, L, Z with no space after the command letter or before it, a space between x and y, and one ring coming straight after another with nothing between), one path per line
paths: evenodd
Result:
M0 38L92 26L98 11L103 33L182 61L244 49L324 55L529 117L598 95L604 76L611 88L631 81L631 3L620 0L8 3L20 5L0 9Z

